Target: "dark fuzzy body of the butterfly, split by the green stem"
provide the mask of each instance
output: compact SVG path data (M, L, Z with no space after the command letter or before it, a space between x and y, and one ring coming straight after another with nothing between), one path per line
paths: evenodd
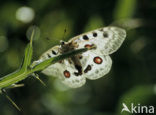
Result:
M76 43L62 42L60 52L61 52L61 54L63 54L63 53L74 50L76 47L77 47ZM81 57L82 57L81 54L78 54L78 55L74 55L74 56L71 56L70 58L68 58L69 63L74 64L75 69L78 71L78 72L74 72L74 74L76 76L82 75L82 65L81 65L81 62L80 62Z

